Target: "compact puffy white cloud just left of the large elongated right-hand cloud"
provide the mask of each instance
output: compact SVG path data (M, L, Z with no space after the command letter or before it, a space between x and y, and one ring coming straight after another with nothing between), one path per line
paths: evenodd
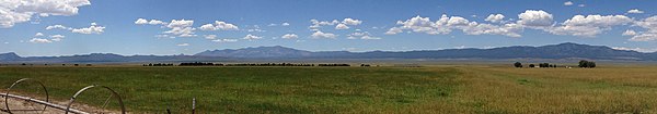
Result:
M518 14L520 18L517 23L528 27L549 27L553 24L552 14L542 10L527 10L523 13Z

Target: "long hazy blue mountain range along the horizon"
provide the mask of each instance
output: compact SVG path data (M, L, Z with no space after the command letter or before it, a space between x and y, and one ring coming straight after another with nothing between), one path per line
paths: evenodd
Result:
M118 55L92 53L70 56L19 56L0 54L0 62L162 62L162 61L221 61L227 59L595 59L655 61L657 53L615 50L604 46L560 43L542 47L502 47L493 49L447 49L422 51L306 51L280 46L243 49L208 50L194 55Z

